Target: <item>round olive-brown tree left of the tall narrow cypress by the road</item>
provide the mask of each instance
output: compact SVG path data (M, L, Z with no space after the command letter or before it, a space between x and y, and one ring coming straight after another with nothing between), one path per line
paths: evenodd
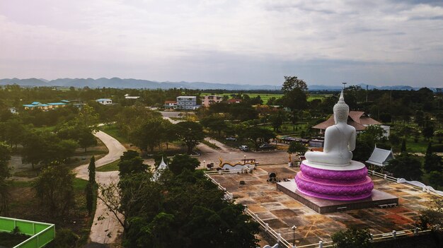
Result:
M65 166L45 167L33 187L48 213L62 216L74 206L74 174Z

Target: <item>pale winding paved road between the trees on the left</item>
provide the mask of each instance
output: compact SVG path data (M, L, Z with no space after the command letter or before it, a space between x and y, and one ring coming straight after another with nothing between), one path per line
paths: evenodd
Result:
M97 138L105 144L108 148L109 153L103 158L96 161L96 167L106 165L108 163L118 160L126 148L122 146L112 136L105 134L103 131L98 131L94 134ZM80 165L74 169L77 173L76 177L81 179L88 179L88 164ZM111 182L118 182L118 172L96 172L96 182L101 185L108 185ZM98 220L100 218L100 220ZM103 220L101 219L103 218ZM105 204L97 199L96 214L94 215L93 225L91 227L91 233L89 238L91 242L96 242L99 244L110 244L115 241L115 238L122 232L122 226L115 219L112 213L108 212Z

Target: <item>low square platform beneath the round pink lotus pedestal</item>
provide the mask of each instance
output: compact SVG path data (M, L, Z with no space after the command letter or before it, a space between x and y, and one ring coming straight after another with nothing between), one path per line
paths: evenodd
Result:
M297 189L294 179L291 179L289 182L277 182L277 189L317 213L334 213L352 209L398 205L398 198L396 196L376 189L372 189L372 194L369 197L353 201L335 201L308 196Z

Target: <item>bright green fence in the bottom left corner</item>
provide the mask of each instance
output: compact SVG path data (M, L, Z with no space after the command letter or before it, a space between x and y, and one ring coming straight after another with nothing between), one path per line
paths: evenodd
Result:
M28 240L17 244L13 248L40 248L54 240L55 225L35 222L30 220L18 220L0 216L0 232L11 232L18 227L19 232L30 235Z

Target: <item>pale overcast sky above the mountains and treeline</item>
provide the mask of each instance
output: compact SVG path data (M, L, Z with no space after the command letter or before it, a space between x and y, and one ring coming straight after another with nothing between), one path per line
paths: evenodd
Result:
M0 0L0 78L443 87L443 1Z

